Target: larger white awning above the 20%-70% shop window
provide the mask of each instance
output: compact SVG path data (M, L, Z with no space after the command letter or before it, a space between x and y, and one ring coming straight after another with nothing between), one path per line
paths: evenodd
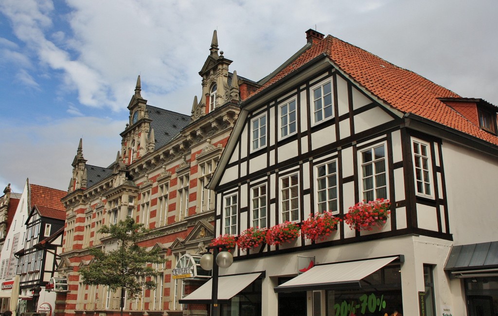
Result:
M361 279L397 258L396 256L314 266L274 290L278 293L360 287Z

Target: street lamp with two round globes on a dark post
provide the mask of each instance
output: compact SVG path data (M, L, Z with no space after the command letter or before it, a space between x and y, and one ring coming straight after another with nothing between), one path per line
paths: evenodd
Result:
M211 291L211 316L219 316L220 315L220 307L218 306L218 270L219 268L228 268L234 262L234 256L225 249L227 249L228 245L217 245L206 247L206 249L213 249L213 254L210 252L202 255L200 264L201 268L204 270L213 270L211 282L212 282L212 291ZM222 251L220 251L220 248ZM213 257L216 260L213 260Z

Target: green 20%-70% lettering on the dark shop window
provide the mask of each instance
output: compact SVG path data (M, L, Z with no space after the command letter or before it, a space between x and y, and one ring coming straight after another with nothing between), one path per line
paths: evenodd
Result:
M374 313L380 313L378 315L381 315L382 313L385 313L387 309L383 294L376 295L375 293L364 293L360 295L358 301L343 300L342 302L336 303L334 305L334 311L334 315L336 316L360 316L372 315Z

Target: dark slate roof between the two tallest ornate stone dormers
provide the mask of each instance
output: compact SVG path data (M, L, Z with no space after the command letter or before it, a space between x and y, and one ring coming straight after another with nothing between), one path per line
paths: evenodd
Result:
M190 123L190 115L176 113L146 105L150 126L154 129L155 149L161 148L171 141L185 126Z

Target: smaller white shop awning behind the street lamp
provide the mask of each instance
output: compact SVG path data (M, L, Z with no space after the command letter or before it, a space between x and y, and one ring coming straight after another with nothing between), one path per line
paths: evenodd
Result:
M260 275L261 272L221 276L218 279L218 300L230 300L244 290L249 284L254 282ZM199 289L181 299L179 301L180 304L211 303L211 294L213 291L212 284L212 279L209 279L209 281L204 283Z

